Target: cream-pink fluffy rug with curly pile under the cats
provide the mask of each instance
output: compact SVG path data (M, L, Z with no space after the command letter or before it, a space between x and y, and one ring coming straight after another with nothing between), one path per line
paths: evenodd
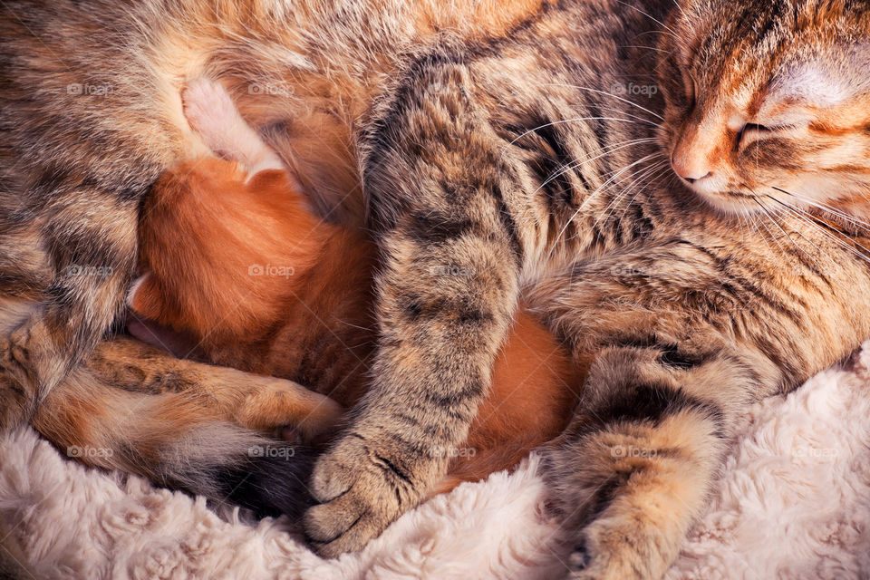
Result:
M462 485L362 553L325 561L283 519L216 513L18 430L0 439L0 550L39 579L557 578L564 551L536 464ZM870 578L870 343L743 419L720 490L667 575L720 578Z

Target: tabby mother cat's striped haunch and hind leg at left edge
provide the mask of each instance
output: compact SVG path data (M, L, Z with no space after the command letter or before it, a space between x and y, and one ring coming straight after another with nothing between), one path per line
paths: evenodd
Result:
M0 6L0 430L30 419L110 329L140 198L183 148L165 85L141 54L86 41L86 12Z

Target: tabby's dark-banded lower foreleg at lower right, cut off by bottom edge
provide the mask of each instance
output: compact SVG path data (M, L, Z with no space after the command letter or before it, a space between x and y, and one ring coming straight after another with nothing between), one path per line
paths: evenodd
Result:
M681 368L655 348L600 353L581 407L546 451L546 477L573 534L573 578L659 578L713 486L728 434L717 380L752 377L715 358Z

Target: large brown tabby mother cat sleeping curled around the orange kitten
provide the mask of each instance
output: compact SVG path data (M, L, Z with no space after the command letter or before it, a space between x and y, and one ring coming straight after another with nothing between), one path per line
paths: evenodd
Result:
M4 10L5 424L63 401L119 312L141 195L196 145L184 79L220 78L249 121L285 129L275 147L324 208L356 185L334 168L359 167L380 340L372 388L314 469L305 527L323 555L444 474L427 451L467 437L521 295L592 358L545 457L575 578L661 576L735 414L870 333L863 1ZM634 92L653 70L662 92Z

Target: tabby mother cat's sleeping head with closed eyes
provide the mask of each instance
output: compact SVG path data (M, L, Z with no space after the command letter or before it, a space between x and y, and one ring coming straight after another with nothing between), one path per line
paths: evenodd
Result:
M662 145L683 182L726 211L866 211L870 2L675 1Z

